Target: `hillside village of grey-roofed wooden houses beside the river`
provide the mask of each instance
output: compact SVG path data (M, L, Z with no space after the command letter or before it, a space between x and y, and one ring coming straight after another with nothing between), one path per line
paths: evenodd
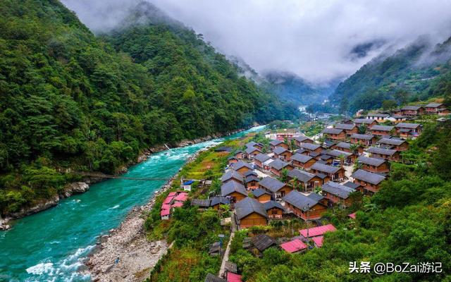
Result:
M242 281L237 265L228 261L236 231L297 219L306 228L291 238L260 233L240 244L257 256L269 247L291 254L321 247L325 234L337 230L323 215L333 208L350 207L358 195L377 193L389 176L390 164L402 161L409 140L421 135L423 125L414 121L424 115L447 114L449 110L440 103L405 106L392 114L357 113L356 118L330 123L311 137L293 130L267 130L259 140L248 136L249 142L242 147L216 147L216 152L228 157L219 179L220 192L190 197L192 185L204 187L212 181L181 180L180 190L170 192L163 201L161 220L171 219L171 212L185 202L198 212L228 206L230 217L223 221L230 223L229 243L224 251L221 238L209 251L223 257L221 270L218 276L208 274L205 281ZM353 221L356 213L347 216Z

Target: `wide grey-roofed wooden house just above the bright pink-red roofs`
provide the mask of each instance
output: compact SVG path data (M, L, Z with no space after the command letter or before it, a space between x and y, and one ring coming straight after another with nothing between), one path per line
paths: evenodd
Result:
M285 195L283 200L285 201L285 209L290 210L305 221L321 219L327 210L327 207L319 201L313 200L311 197L307 197L295 190Z

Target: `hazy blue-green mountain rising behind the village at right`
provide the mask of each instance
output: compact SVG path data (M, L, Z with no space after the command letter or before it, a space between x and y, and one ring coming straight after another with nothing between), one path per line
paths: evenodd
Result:
M451 72L450 48L451 39L433 46L422 37L394 54L384 52L341 82L330 100L357 111L387 100L400 105L436 96L436 85Z

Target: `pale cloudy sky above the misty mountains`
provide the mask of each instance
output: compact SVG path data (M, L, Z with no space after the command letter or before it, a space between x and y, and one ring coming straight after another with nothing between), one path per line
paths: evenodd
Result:
M137 0L63 0L94 32ZM218 51L259 73L283 71L321 84L352 75L384 50L420 36L451 36L449 0L147 0Z

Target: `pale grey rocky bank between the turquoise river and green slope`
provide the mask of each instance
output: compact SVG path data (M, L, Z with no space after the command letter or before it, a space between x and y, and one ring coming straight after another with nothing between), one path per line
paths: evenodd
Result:
M196 152L187 163L197 158ZM154 207L157 195L171 188L175 174L154 197L142 207L134 207L117 229L99 239L98 246L85 262L92 281L143 281L155 264L166 254L165 240L149 241L144 231L144 221Z

